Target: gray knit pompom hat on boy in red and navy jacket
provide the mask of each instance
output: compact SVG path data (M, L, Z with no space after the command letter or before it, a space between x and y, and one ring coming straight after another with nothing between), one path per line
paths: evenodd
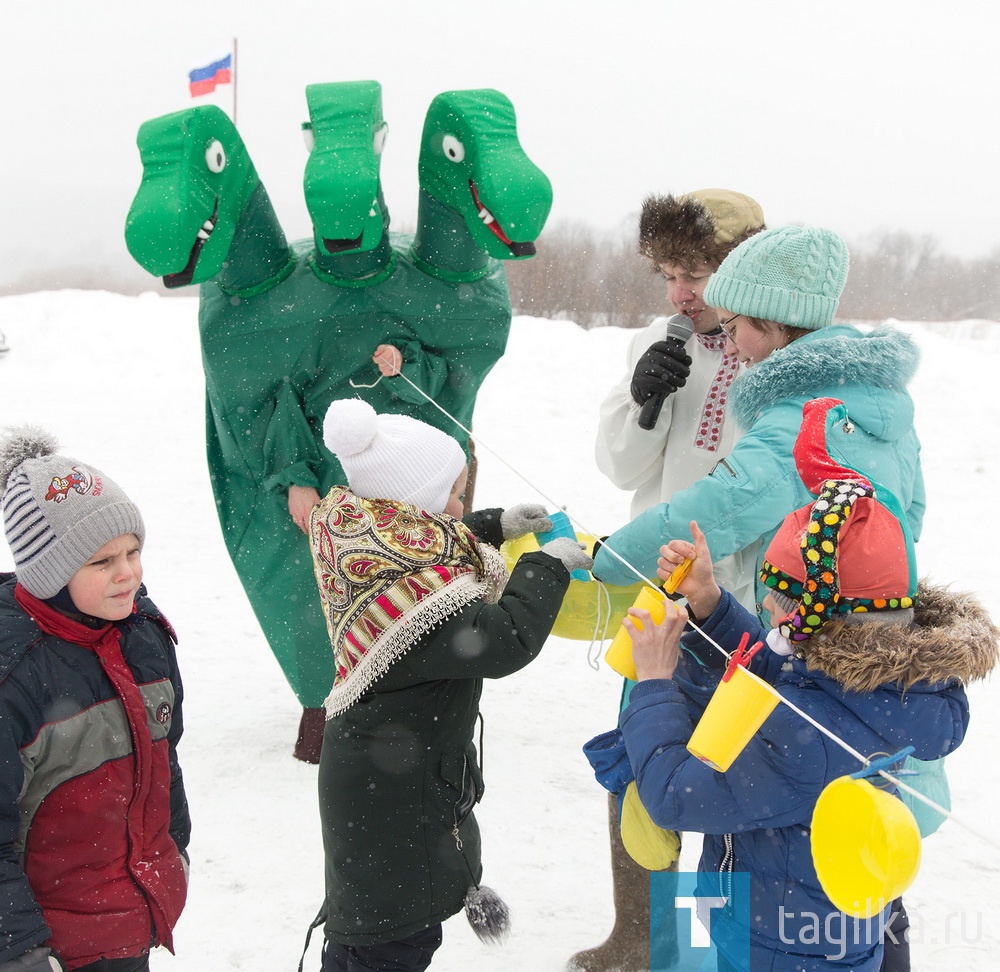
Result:
M55 454L41 429L10 430L0 442L3 525L21 585L54 597L109 540L146 527L139 508L99 469Z

